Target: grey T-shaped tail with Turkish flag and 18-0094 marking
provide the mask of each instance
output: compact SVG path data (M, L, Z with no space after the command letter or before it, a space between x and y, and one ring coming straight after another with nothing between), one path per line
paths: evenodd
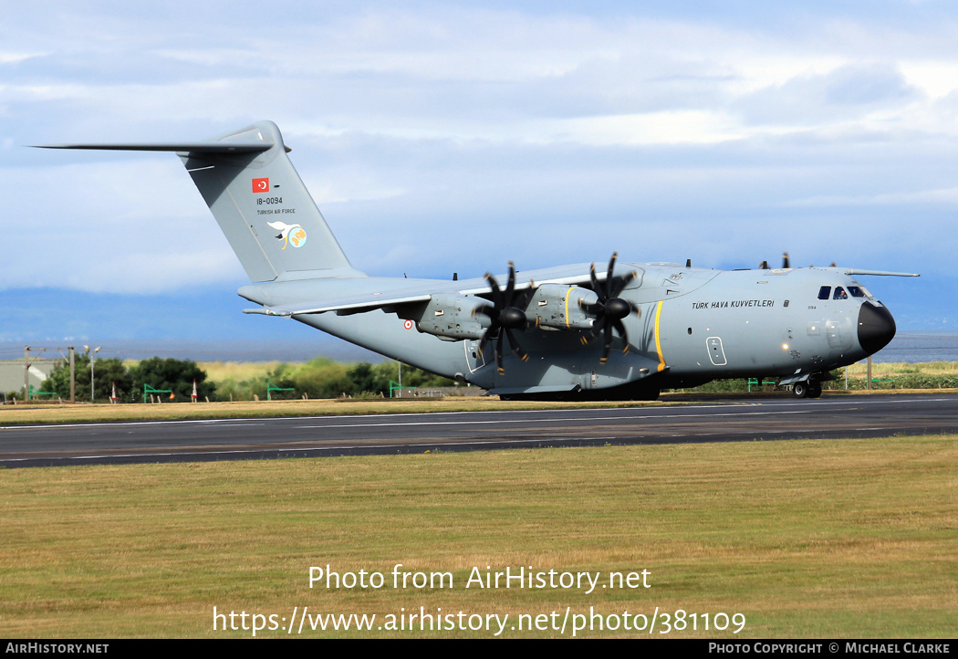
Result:
M51 148L175 151L253 282L362 276L316 208L272 122L196 143Z

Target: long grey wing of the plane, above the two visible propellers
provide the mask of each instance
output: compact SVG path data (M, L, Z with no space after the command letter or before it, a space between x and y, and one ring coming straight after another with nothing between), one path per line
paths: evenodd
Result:
M630 266L623 264L622 270ZM619 274L622 274L620 271ZM605 272L597 272L597 279L603 281ZM507 275L494 275L500 287L506 283ZM587 263L561 265L541 270L516 271L515 290L535 288L541 284L589 284L589 266ZM479 295L489 293L490 287L484 278L445 282L435 280L397 280L376 277L356 280L365 291L332 293L322 299L297 302L294 304L264 306L262 308L243 309L243 313L260 313L266 316L296 316L306 313L326 313L335 311L340 315L362 313L376 308L396 307L428 302L433 295ZM399 284L399 285L398 285ZM240 292L240 294L242 294Z

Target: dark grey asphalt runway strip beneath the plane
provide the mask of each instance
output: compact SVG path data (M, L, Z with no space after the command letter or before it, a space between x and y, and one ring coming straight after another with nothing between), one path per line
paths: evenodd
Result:
M958 394L741 398L621 409L0 426L0 466L956 433Z

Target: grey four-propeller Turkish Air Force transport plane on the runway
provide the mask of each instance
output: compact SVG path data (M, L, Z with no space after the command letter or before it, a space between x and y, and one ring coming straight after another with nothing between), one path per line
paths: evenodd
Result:
M356 270L260 122L212 140L57 145L173 151L252 284L248 313L286 316L503 398L654 399L729 377L780 377L821 395L832 369L895 335L891 313L841 267L720 271L676 263L562 265L439 281Z

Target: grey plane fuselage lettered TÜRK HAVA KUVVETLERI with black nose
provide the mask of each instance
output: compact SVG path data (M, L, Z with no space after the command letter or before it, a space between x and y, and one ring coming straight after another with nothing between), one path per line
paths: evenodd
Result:
M636 312L625 319L628 351L623 352L625 345L616 336L605 364L602 341L582 345L583 330L540 327L516 332L529 358L507 355L505 374L500 375L489 354L477 351L478 340L443 340L422 333L388 308L294 317L428 371L500 390L604 389L652 376L658 388L728 377L799 379L854 363L883 347L895 331L887 309L834 268L719 271L667 263L621 265L637 272L620 295ZM388 293L410 284L429 282L342 278L258 284L240 294L262 305L283 305L345 292ZM824 300L819 299L823 286L829 289ZM843 295L835 299L839 290Z

